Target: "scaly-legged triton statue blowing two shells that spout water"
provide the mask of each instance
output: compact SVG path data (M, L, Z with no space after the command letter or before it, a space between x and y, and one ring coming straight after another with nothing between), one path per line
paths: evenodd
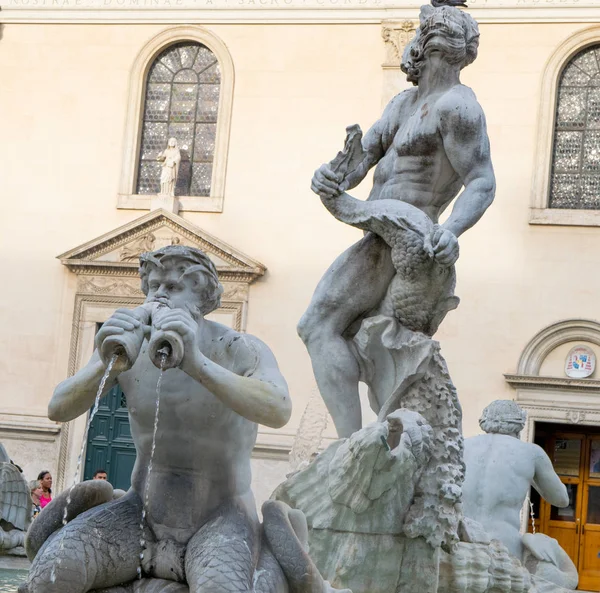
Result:
M102 499L104 487L92 481L73 489L72 503L68 491L55 498L28 534L32 567L20 593L332 593L305 551L304 515L267 501L261 526L250 490L258 424L278 428L291 414L272 352L205 319L223 287L202 251L168 245L143 254L140 276L144 305L104 323L90 362L49 404L57 421L87 413L120 344L104 392L119 384L127 393L137 451L131 490L110 502L112 492ZM161 340L170 348L162 362ZM145 578L136 581L142 550Z

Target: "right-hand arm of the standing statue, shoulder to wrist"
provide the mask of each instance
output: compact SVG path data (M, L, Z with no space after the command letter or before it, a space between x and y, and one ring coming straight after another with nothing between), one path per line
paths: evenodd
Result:
M452 213L442 225L459 237L488 209L496 193L485 116L468 89L445 99L440 112L444 149L450 164L464 184Z

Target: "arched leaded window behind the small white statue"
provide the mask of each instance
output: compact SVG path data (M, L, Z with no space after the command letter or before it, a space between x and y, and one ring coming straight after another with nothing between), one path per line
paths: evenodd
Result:
M177 43L158 55L146 79L138 194L159 193L157 158L174 137L181 150L175 195L210 195L220 83L219 62L200 43Z

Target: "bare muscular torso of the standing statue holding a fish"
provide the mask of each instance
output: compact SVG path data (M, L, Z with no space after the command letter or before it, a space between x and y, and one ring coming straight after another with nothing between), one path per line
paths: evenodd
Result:
M463 185L441 132L444 113L453 104L479 109L473 92L461 84L421 98L417 88L396 96L374 127L385 155L375 169L369 200L401 200L437 222ZM370 141L367 136L367 150Z

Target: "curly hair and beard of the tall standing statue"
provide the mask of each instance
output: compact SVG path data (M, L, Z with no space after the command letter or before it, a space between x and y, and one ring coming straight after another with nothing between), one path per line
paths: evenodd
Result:
M425 56L431 50L443 52L451 64L460 68L475 61L479 47L479 27L468 13L455 6L422 6L420 24L406 46L400 68L406 78L418 84Z

